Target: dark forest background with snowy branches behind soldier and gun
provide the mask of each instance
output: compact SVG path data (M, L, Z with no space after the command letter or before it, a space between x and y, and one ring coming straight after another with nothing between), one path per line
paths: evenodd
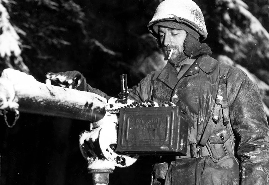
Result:
M137 84L165 65L147 23L161 0L1 0L0 71L18 69L44 82L48 71L78 70L108 95L120 75ZM269 116L269 1L196 0L213 57L255 81ZM0 117L1 185L91 184L79 133L89 123L22 113L9 129ZM154 157L116 168L111 185L149 184Z

